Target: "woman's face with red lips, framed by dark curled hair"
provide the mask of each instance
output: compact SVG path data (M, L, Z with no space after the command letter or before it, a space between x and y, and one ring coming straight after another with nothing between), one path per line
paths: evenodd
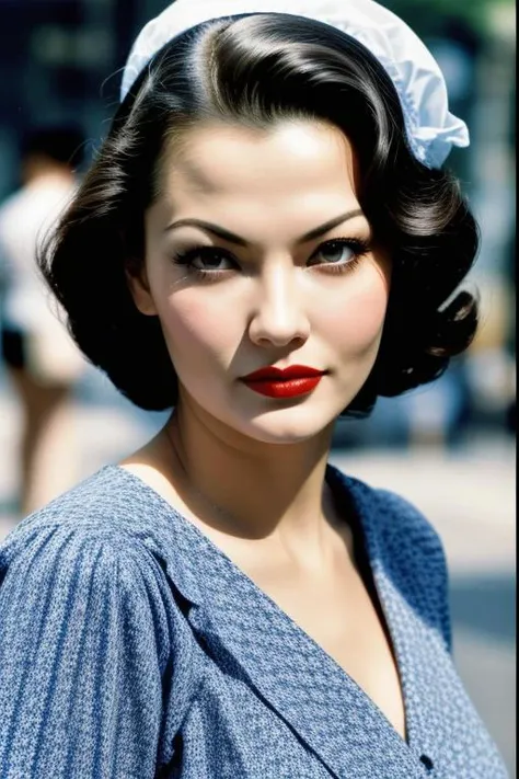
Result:
M390 263L335 127L207 125L164 156L132 290L157 314L180 403L267 443L330 429L377 357ZM244 377L301 366L296 377Z

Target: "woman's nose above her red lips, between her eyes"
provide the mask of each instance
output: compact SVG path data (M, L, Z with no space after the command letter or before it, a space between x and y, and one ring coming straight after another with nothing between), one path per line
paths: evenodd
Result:
M310 335L303 291L298 271L281 263L266 270L257 279L257 297L249 335L257 346L302 346Z

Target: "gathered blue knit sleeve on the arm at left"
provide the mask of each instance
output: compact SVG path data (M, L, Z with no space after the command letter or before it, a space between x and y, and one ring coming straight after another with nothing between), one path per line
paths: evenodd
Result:
M0 587L0 776L151 778L170 654L160 566L99 530L41 535Z

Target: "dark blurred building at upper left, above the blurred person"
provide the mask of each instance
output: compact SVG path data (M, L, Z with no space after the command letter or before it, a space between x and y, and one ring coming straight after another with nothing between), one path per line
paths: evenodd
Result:
M92 146L113 113L136 31L159 0L0 0L0 198L16 185L16 138L73 118Z

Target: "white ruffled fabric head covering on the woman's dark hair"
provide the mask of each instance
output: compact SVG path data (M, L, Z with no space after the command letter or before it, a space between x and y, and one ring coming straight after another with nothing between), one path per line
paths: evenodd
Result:
M176 0L138 35L124 70L120 100L169 41L203 22L247 13L313 19L364 44L391 77L412 149L429 168L440 168L453 146L469 146L466 125L449 113L435 58L411 27L373 0Z

